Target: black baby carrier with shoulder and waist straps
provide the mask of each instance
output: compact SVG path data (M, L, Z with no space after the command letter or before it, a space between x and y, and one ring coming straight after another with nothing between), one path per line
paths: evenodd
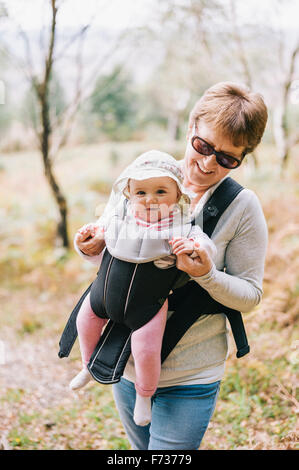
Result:
M221 215L242 189L232 178L226 178L192 223L202 221L203 231L211 237ZM73 347L77 337L76 318L89 292L94 313L109 319L87 366L100 383L119 382L131 354L132 332L151 320L166 298L168 310L173 313L163 336L162 363L190 326L205 314L224 313L230 322L237 357L249 352L241 313L214 300L186 273L175 266L159 269L153 262L122 261L106 249L96 280L86 289L65 326L59 357L67 357Z

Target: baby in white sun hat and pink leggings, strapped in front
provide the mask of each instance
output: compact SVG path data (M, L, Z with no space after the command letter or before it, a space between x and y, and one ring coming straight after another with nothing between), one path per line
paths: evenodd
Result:
M173 157L156 150L146 152L114 184L118 202L113 210L106 210L96 224L85 225L77 235L82 241L94 236L103 239L106 253L78 313L83 369L71 381L70 388L77 390L92 379L87 364L107 318L126 323L133 330L134 420L141 426L151 421L151 397L160 377L167 295L174 281L175 270L171 268L176 264L176 255L197 256L196 244L204 245L211 258L216 254L213 242L199 226L191 224L190 199L182 181L179 163ZM116 270L115 260L119 260ZM161 280L159 276L163 276ZM157 291L165 283L163 279L168 287L161 301ZM153 288L148 301L145 283ZM154 301L155 296L160 304ZM142 307L138 307L138 302Z

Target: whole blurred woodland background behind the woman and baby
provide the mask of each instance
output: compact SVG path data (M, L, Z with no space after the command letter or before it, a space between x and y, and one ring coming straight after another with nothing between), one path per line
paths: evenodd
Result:
M72 239L137 155L183 158L192 105L219 81L268 106L233 176L260 198L269 247L251 353L231 347L202 449L298 448L298 16L295 0L0 2L0 448L130 449L111 387L69 391L78 345L57 356L95 275Z

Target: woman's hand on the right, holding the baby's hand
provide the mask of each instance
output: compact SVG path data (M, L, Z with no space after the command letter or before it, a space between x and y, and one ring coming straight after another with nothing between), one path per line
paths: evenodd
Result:
M208 252L196 242L194 243L194 251L197 254L196 258L191 258L187 254L177 255L176 266L191 277L204 276L211 271L213 262Z

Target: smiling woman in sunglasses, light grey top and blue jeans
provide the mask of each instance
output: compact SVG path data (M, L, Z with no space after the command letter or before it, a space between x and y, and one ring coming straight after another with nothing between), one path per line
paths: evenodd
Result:
M194 106L182 162L184 185L194 193L196 215L223 179L259 144L267 109L259 94L230 83L216 84ZM221 216L212 235L215 263L198 248L198 258L182 254L177 267L217 302L242 312L261 300L267 227L255 194L241 191ZM90 260L101 241L76 239ZM198 301L200 308L200 299ZM227 357L225 315L203 315L162 364L152 400L152 421L133 421L135 371L128 361L124 377L113 385L116 405L134 449L198 449L213 414Z

